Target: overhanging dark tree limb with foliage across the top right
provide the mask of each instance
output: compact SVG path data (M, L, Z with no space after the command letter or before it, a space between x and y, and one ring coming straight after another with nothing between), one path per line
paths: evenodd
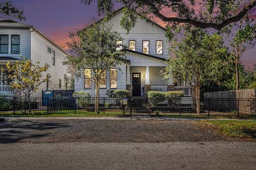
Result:
M90 5L92 0L81 0ZM98 0L98 13L111 14L115 2L124 5L121 25L130 30L137 22L139 12L142 17L155 16L169 24L188 23L198 28L221 30L228 24L238 22L256 5L256 0ZM196 7L200 7L196 11ZM169 11L175 15L170 16Z

